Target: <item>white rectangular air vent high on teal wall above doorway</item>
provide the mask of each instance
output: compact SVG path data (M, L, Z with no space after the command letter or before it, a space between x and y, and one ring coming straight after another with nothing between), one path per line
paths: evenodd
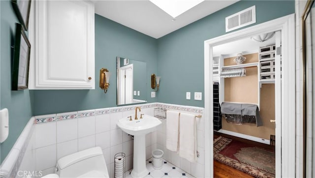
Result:
M225 17L225 32L256 23L256 6L252 6L233 15Z

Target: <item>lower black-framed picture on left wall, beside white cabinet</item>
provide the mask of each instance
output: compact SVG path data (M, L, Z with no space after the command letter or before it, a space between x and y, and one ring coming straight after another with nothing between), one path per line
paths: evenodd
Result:
M12 60L12 90L28 88L31 43L22 25L16 24L15 43Z

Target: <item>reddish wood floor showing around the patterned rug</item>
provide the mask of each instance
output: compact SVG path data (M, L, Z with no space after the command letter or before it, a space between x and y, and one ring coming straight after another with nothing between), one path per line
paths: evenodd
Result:
M240 142L250 142L251 144L255 144L256 146L264 147L266 149L275 150L275 146L271 146L271 145L259 143L259 142L253 142L253 141L249 141L246 139L237 138L237 137L221 134L218 132L214 132L214 138L215 139L218 138L219 136L233 139L233 140L237 140ZM215 161L215 160L214 160L214 175L213 175L213 177L214 178L254 178L251 175L248 175L242 171L239 171L235 168L229 167L229 166L222 164L222 163Z

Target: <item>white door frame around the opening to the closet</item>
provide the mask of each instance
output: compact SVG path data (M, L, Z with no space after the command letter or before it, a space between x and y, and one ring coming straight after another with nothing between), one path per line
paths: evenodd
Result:
M279 122L281 124L282 139L280 144L276 144L276 150L281 150L281 153L277 154L280 157L277 158L282 164L276 166L276 177L295 177L295 14L291 14L204 41L205 178L213 177L212 47L275 31L281 31L283 59L281 119L276 121L276 125L279 125Z

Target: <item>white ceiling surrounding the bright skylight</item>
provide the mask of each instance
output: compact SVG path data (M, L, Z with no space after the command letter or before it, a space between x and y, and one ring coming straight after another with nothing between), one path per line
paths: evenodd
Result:
M95 13L145 35L159 38L238 0L205 0L176 18L149 0L92 0Z

